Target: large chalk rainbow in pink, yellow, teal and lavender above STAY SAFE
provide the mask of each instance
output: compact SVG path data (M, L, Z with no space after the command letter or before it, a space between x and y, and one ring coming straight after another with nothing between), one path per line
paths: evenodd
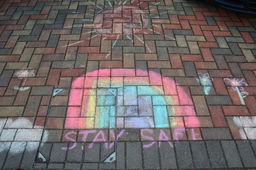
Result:
M116 123L117 128L184 127L176 116L186 116L188 128L200 127L190 96L174 80L139 69L99 69L73 81L65 129L115 128Z

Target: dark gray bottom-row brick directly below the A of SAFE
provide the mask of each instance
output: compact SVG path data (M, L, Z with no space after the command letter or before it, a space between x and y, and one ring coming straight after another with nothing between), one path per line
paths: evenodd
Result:
M174 145L173 142L171 142ZM177 169L174 147L169 145L169 142L161 142L159 147L161 157L161 169Z

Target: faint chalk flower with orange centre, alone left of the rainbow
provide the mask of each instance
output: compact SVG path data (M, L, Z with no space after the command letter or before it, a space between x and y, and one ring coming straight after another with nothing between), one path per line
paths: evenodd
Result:
M25 69L25 68L21 69L18 72L16 72L15 75L16 75L16 77L18 77L18 79L25 78L25 81L23 82L21 87L14 86L15 90L26 91L26 90L30 89L30 86L24 87L24 85L26 84L26 80L28 77L35 77L35 73L34 73L33 69Z

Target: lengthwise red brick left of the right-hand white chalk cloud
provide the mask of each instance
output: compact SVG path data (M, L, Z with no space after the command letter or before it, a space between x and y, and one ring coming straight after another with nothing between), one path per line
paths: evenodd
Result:
M209 106L210 115L213 120L213 125L216 128L220 127L228 127L225 117L223 115L223 111L221 110L220 106Z

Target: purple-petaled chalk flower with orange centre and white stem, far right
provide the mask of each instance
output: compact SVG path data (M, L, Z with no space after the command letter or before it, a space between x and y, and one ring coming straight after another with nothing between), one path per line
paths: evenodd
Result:
M242 86L248 86L248 84L245 82L245 79L225 78L224 81L226 84L229 84L230 86L232 86L232 89L234 91L238 92L238 96L240 98L242 105L245 105L245 101L243 98L249 95L245 91L245 89L243 89L242 87Z

